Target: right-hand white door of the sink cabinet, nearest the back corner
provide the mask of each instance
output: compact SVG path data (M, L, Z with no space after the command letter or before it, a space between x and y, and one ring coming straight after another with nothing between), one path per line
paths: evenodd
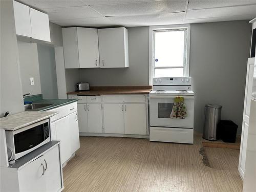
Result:
M71 154L80 148L77 111L68 115Z

